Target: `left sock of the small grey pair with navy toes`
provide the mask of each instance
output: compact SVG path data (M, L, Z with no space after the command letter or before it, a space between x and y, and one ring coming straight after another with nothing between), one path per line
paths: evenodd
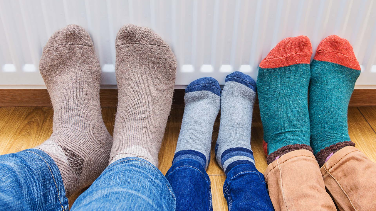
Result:
M193 159L206 169L210 161L211 137L221 101L221 88L211 77L193 81L185 89L185 109L172 164Z

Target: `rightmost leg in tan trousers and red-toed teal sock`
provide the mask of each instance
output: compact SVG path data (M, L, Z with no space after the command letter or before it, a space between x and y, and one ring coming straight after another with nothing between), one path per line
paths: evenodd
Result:
M359 74L349 41L332 35L318 45L309 85L311 146L342 211L376 207L376 164L354 147L347 129L347 107Z

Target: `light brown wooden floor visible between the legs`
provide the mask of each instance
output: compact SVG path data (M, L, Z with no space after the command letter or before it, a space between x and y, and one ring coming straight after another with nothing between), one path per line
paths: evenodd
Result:
M114 128L115 108L103 108L103 119L109 131ZM52 133L53 110L50 107L3 107L0 108L0 154L18 152L32 148L48 139ZM349 134L356 147L361 149L368 157L376 162L376 107L350 107L349 108ZM177 137L179 136L182 122L183 109L173 108L167 123L165 137L159 153L159 169L163 174L171 166ZM215 122L212 140L217 140L219 118ZM256 107L252 124L252 149L256 167L264 173L267 164L262 151L262 125L259 110ZM211 157L214 156L212 143ZM226 200L223 197L222 185L226 179L223 171L211 160L208 175L212 184L212 198L214 211L227 210ZM70 197L70 204L76 196Z

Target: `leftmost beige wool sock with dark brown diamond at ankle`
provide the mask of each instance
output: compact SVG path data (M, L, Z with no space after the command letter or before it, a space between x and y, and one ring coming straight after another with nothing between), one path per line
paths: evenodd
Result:
M51 137L36 148L56 162L68 197L102 173L112 145L100 110L100 66L89 34L77 25L56 31L43 48L39 69L54 116Z

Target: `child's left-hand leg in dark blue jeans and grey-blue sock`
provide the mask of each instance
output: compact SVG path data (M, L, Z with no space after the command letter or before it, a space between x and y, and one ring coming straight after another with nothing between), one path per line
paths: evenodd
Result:
M176 210L213 210L210 179L211 137L220 109L221 88L200 78L185 89L185 109L172 166L166 173L176 195Z

